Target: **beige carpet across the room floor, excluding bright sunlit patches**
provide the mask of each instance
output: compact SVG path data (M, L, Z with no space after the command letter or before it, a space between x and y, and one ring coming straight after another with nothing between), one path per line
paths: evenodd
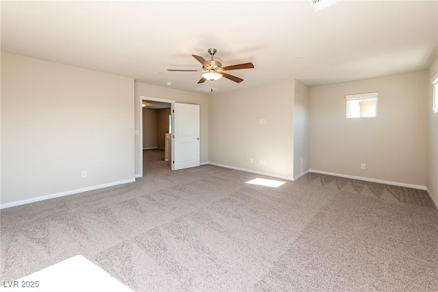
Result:
M1 210L0 281L80 255L133 291L438 291L424 191L315 173L270 188L211 165L144 175Z

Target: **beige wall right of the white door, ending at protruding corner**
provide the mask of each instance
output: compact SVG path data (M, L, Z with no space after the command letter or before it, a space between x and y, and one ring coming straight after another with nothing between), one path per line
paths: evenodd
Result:
M293 80L211 95L209 161L293 178L293 95Z

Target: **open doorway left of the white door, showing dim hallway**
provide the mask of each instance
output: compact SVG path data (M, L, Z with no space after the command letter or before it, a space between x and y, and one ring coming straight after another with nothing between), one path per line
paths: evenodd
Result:
M140 96L140 176L171 169L172 109L175 101Z

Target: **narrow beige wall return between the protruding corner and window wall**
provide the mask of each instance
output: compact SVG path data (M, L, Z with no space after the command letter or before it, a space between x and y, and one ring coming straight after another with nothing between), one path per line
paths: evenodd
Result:
M309 170L309 86L294 80L294 178Z

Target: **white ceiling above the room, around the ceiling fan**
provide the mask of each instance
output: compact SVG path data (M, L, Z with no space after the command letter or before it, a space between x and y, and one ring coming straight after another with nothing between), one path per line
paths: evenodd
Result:
M2 1L1 50L201 93L191 55L229 71L214 93L297 79L309 86L428 69L438 1ZM301 61L297 58L302 58ZM171 86L166 82L172 82ZM214 94L208 93L208 94Z

